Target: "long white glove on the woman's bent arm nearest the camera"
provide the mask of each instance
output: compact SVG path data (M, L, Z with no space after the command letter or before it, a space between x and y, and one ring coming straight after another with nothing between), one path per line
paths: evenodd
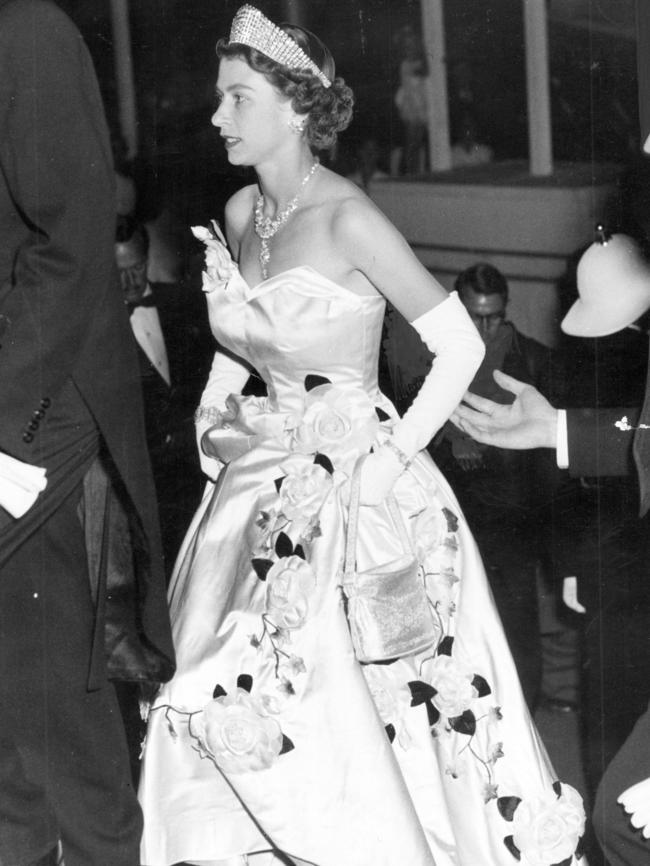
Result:
M457 292L411 325L435 358L415 400L395 424L389 443L364 461L362 505L383 502L407 464L458 406L485 355L483 341Z

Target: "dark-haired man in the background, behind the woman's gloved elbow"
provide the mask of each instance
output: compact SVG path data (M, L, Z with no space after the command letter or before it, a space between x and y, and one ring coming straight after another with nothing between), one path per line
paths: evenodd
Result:
M555 393L558 369L552 351L507 319L508 284L487 263L456 278L455 289L485 343L485 358L470 388L498 403L510 394L492 372L505 369ZM541 639L537 571L542 558L540 509L555 477L540 452L509 451L475 442L451 422L430 451L455 490L481 556L531 711L539 696Z

